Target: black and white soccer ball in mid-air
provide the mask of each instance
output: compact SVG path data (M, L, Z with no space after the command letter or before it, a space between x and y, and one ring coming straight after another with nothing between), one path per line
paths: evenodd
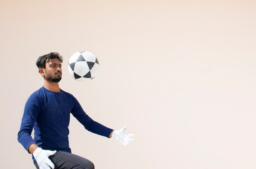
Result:
M92 80L99 71L99 61L90 51L77 51L68 61L68 73L80 82Z

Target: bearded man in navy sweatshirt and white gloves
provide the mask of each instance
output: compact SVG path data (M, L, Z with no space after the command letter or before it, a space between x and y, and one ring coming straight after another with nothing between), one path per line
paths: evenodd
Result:
M71 154L68 144L70 113L86 130L104 137L113 137L124 145L133 141L134 134L127 134L126 127L116 131L92 120L72 94L60 89L62 61L62 56L54 52L37 59L44 86L31 94L25 104L18 142L32 154L37 169L92 169L95 167L91 161ZM33 128L34 139L31 137Z

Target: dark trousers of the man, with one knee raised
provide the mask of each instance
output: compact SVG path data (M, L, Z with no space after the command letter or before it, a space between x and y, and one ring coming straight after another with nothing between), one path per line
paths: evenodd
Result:
M86 158L70 154L64 151L57 151L49 159L54 163L54 169L94 169L95 165ZM39 169L35 161L35 167Z

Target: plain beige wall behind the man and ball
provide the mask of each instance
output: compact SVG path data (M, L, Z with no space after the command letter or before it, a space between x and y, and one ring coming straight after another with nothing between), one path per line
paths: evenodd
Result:
M256 168L255 1L0 2L0 168L34 168L17 141L28 96L43 81L35 61L64 57L61 88L100 123L128 125L122 146L71 118L74 154L96 168ZM68 58L99 59L76 82Z

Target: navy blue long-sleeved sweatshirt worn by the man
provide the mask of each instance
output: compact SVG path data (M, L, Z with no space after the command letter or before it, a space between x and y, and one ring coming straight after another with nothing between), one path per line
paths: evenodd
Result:
M68 125L71 113L90 132L109 137L113 131L92 120L72 94L63 90L51 92L41 87L31 94L25 104L20 131L18 132L18 142L27 151L28 147L35 143L42 149L71 153L68 144ZM31 137L33 127L35 130L34 139Z

